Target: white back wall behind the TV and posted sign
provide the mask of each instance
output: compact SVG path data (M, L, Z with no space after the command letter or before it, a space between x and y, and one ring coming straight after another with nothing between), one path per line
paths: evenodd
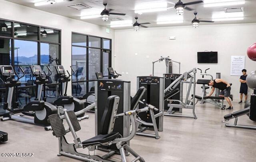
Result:
M247 57L246 50L256 42L256 23L201 25L192 26L142 28L138 32L115 30L115 70L123 74L121 79L131 81L131 94L136 92L136 76L152 74L152 61L160 56L170 56L172 60L181 62L181 72L192 68L210 68L208 73L216 76L221 72L222 79L232 83L234 99L239 100L239 76L230 76L230 56L246 56L248 72L256 70L256 62ZM176 40L169 40L176 36ZM218 51L218 64L198 64L197 52ZM135 55L137 53L137 55ZM147 58L148 56L148 58ZM156 63L155 76L163 76L165 63ZM199 71L199 70L198 70ZM178 65L174 64L174 73L178 73ZM197 78L201 78L199 72ZM201 94L200 86L196 94Z

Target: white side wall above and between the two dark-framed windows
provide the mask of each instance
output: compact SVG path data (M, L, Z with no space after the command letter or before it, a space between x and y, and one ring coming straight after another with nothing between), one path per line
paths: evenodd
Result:
M0 8L0 18L61 29L61 62L67 70L71 66L71 32L110 38L112 39L112 48L114 48L114 30L110 30L108 34L106 33L106 28L102 26L51 14L4 0L0 0ZM114 56L114 51L112 51L112 56ZM114 61L112 61L112 64L114 66ZM68 95L71 95L71 82L69 84Z

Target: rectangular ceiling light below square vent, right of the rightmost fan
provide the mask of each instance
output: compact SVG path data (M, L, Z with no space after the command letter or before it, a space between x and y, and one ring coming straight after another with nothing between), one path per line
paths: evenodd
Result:
M212 21L244 20L244 12L214 12Z

